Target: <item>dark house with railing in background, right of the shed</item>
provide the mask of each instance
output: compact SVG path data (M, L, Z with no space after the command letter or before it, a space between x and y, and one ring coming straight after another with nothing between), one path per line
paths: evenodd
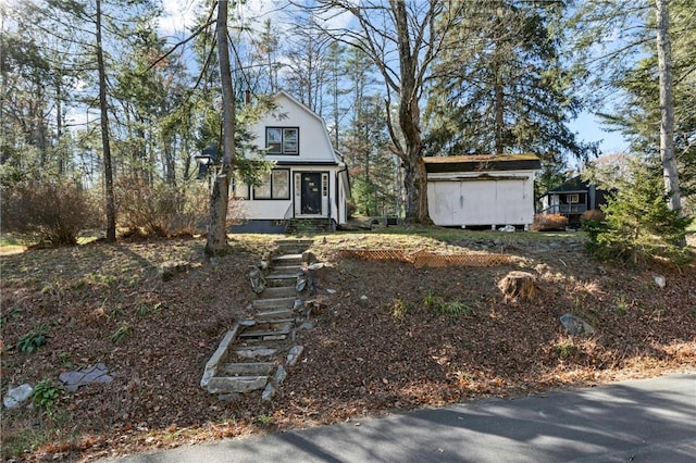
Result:
M542 195L540 213L566 215L569 225L579 225L585 211L599 209L607 203L606 197L607 191L576 176Z

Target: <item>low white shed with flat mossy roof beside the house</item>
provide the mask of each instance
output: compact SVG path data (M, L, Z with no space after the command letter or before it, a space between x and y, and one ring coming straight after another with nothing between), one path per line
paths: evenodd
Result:
M435 225L523 226L534 220L534 154L425 158L427 203Z

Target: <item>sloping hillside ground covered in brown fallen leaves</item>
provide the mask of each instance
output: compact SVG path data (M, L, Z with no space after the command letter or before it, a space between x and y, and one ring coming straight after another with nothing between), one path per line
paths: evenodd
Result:
M312 329L270 403L225 401L199 387L203 366L256 298L249 264L274 236L235 236L233 252L203 259L201 240L92 243L0 258L2 387L51 379L103 362L105 385L62 390L51 414L3 410L7 461L86 461L241 437L363 414L489 396L520 396L666 372L696 370L696 266L633 268L586 255L582 234L377 230L314 237L327 264L304 295ZM693 243L692 243L693 246ZM504 253L496 266L417 268L364 261L341 249ZM166 261L191 268L162 281ZM532 301L505 301L497 281L535 275ZM656 275L666 277L659 288ZM597 333L563 333L573 313ZM114 334L127 327L119 339ZM48 341L16 346L30 331Z

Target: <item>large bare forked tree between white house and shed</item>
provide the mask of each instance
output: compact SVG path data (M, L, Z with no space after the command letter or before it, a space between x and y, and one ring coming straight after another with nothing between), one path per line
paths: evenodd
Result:
M349 14L357 27L324 28L335 39L360 49L374 62L386 83L387 123L391 151L400 159L406 187L406 221L432 223L427 211L427 176L423 162L421 100L433 61L459 8L439 0L365 0L359 3L318 0L323 17ZM328 24L328 22L327 22ZM391 95L397 117L393 121Z

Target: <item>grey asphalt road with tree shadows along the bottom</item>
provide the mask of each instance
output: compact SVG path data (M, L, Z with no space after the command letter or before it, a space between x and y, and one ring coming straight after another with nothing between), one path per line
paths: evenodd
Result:
M696 462L696 374L480 400L119 460Z

